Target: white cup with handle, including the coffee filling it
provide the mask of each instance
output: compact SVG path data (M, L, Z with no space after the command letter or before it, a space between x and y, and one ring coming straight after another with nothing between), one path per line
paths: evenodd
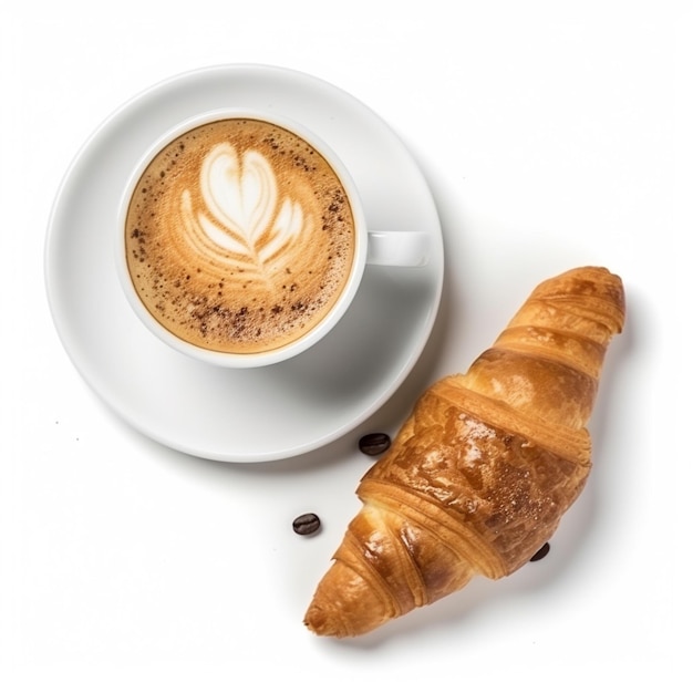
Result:
M301 124L235 108L193 117L145 153L115 255L130 304L163 342L250 368L317 344L366 265L423 266L428 242L369 229L345 165Z

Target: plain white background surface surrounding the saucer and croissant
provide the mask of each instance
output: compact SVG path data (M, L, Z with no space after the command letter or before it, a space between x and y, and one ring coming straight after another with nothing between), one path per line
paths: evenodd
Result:
M690 690L684 4L3 4L0 691ZM439 319L402 392L327 449L259 465L117 421L65 354L43 283L51 205L92 132L161 80L239 62L314 74L385 118L446 245ZM623 278L628 324L593 475L549 557L360 640L311 635L303 611L369 465L358 434L394 433L536 283L582 263ZM324 521L308 540L291 531L307 510Z

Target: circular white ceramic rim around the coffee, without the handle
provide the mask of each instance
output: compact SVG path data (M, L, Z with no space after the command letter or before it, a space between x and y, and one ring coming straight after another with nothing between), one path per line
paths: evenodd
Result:
M316 151L318 151L330 164L330 166L337 174L337 177L340 179L340 183L349 198L354 221L354 257L349 271L346 283L334 306L332 306L327 316L317 325L311 328L308 332L306 332L298 339L282 346L278 346L277 349L271 349L258 353L231 353L205 349L204 346L187 342L186 340L170 332L161 322L158 322L158 320L156 320L156 318L148 311L148 309L141 300L137 291L135 290L135 287L133 286L126 259L125 223L130 208L130 201L135 192L137 183L139 182L142 175L144 174L152 159L166 145L168 145L170 142L185 134L186 132L209 123L214 123L216 121L230 118L265 121L267 123L292 132L293 134L304 139L310 146L314 147ZM327 142L324 142L319 135L313 133L301 123L285 115L262 111L259 108L227 107L205 111L177 123L176 125L164 132L146 148L146 151L135 164L127 178L127 183L125 185L118 205L117 232L115 238L115 262L120 283L123 288L123 291L131 308L139 318L139 321L146 328L148 328L148 330L161 341L168 344L180 353L192 356L198 361L209 363L211 365L236 369L272 365L291 359L300 353L303 353L304 351L317 344L329 332L331 332L331 330L348 312L361 285L361 279L363 277L366 265L366 255L368 227L365 224L363 205L361 203L356 184L345 164Z

